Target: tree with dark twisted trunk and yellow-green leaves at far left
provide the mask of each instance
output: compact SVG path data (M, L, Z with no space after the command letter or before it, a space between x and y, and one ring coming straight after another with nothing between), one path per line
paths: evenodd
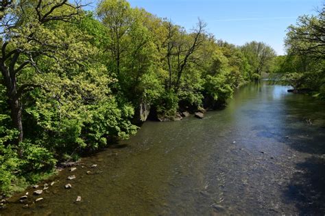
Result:
M21 97L34 83L19 83L25 68L38 70L38 58L54 57L60 49L67 49L60 32L49 28L57 22L77 22L83 5L67 0L2 1L0 5L1 79L8 96L12 123L19 131L18 142L23 140ZM38 71L39 72L39 71Z

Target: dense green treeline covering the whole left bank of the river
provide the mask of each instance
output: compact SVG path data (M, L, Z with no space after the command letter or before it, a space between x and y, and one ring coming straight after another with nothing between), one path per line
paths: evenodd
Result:
M125 0L83 8L67 0L0 3L3 194L134 135L148 116L176 120L182 111L224 106L236 88L267 72L283 74L291 61L263 42L235 46L216 40L203 21L184 29Z

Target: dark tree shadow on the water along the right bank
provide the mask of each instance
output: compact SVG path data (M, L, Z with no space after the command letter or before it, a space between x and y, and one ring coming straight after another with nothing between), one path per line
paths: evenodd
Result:
M307 153L304 161L295 165L285 200L295 203L300 215L325 215L325 104L294 96L285 100L285 107L289 147Z

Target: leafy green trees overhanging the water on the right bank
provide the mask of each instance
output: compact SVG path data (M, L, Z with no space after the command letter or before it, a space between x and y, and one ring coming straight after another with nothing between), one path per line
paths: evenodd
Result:
M274 74L295 92L325 98L325 6L315 16L300 16L287 29L287 55L276 57Z

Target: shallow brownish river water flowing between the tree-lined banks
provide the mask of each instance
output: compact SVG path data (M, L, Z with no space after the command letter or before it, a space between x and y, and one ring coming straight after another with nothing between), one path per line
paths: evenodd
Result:
M0 215L324 215L325 103L288 88L252 83L202 120L145 122Z

